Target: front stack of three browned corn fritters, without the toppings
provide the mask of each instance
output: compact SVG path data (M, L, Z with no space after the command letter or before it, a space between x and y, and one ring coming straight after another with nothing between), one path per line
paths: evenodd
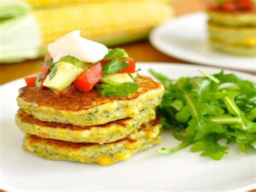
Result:
M139 90L127 98L21 88L16 123L26 133L23 148L46 159L107 165L159 143L154 108L164 88L151 78L138 79Z

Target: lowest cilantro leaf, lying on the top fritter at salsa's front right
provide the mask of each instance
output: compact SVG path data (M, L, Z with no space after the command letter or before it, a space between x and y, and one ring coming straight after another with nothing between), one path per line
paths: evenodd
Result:
M105 85L105 84L99 84L96 85L97 92L99 94L102 94L104 96L118 96L118 97L127 97L130 94L136 92L138 90L138 85L126 82L119 86L116 85Z

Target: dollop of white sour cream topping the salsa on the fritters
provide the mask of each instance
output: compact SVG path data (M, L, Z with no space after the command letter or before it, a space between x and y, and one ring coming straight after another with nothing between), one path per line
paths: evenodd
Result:
M72 56L86 63L95 63L109 52L105 45L81 37L80 32L72 31L48 45L53 62L65 56Z

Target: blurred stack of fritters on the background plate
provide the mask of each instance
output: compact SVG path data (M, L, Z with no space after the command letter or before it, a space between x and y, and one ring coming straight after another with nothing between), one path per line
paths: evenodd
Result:
M208 32L214 49L241 56L256 56L256 12L208 11Z

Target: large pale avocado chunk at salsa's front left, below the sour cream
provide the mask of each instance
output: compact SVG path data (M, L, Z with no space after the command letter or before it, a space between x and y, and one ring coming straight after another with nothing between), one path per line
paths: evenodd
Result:
M43 82L43 86L53 90L65 90L71 83L82 74L84 70L80 67L66 62L58 62Z

